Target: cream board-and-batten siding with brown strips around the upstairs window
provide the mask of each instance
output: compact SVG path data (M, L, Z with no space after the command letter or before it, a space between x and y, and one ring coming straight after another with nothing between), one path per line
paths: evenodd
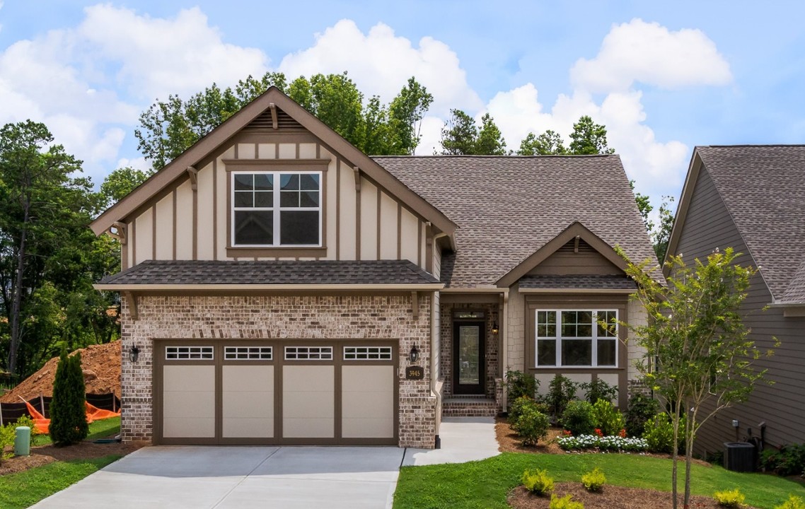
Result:
M299 138L299 135L296 135ZM276 135L273 139L278 138ZM252 139L252 138L250 138ZM310 142L233 142L197 168L196 190L189 176L145 204L125 223L123 269L146 260L409 260L423 269L427 260L427 222L365 174L357 190L351 162L333 154L311 135ZM294 248L271 248L269 257L233 256L229 247L229 183L225 160L325 159L323 245L315 256L296 256ZM254 166L255 170L262 169ZM272 165L269 170L293 170Z

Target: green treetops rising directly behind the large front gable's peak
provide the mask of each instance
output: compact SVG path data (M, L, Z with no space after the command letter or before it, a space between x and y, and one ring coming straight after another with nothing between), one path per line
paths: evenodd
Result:
M279 88L365 154L414 154L422 119L433 96L411 77L389 105L365 99L346 72L299 76L288 82L281 72L248 76L234 88L217 84L184 101L170 95L140 115L138 149L161 169L205 134L221 125L270 86Z

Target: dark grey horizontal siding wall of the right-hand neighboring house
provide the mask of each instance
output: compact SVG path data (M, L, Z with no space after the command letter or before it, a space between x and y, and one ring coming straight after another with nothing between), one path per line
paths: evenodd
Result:
M755 266L744 240L708 174L700 169L691 195L687 217L679 236L675 254L681 253L687 264L695 258L703 260L715 248L727 247L743 253L737 259L741 265ZM784 317L779 308L763 310L772 302L771 293L760 273L750 281L749 294L744 302L744 321L751 329L750 339L760 351L774 348L774 337L780 342L774 356L762 356L754 366L768 368L773 385L758 384L746 404L725 408L704 423L696 438L701 454L724 450L725 441L735 440L732 421L739 423L739 437L760 434L759 424L766 422L766 443L779 446L805 441L805 318Z

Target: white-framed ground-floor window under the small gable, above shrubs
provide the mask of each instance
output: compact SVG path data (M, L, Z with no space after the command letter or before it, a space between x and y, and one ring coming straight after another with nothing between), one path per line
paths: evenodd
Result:
M617 367L617 310L536 310L537 367Z

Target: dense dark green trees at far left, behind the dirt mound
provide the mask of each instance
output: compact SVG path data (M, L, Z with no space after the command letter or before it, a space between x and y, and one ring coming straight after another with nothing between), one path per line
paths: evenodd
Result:
M87 228L105 198L80 175L45 125L0 129L0 359L12 373L119 334L114 296L92 287L117 269L117 245Z

